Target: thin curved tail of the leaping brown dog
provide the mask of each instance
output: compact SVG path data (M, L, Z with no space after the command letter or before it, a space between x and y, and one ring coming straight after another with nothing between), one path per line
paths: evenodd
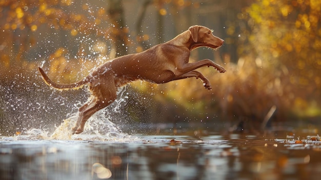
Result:
M89 81L90 81L90 79L85 77L83 80L78 81L76 83L58 84L58 83L53 82L41 67L38 67L38 70L40 71L40 73L43 76L43 79L47 85L49 85L55 89L59 89L59 90L71 89L71 88L78 89L78 88L83 87L85 84L89 83Z

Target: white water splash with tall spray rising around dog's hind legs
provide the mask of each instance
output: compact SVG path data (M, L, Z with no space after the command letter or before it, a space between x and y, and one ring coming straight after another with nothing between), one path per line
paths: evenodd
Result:
M67 118L63 122L54 126L53 128L48 127L32 127L30 129L24 128L21 132L17 132L16 135L12 137L0 137L7 140L34 140L34 139L58 139L58 140L84 140L84 141L135 141L137 137L123 133L122 130L111 122L112 115L115 113L122 113L122 106L127 102L126 87L119 88L117 91L117 100L101 111L98 111L92 115L87 123L85 124L84 132L81 134L72 134L72 127L76 124L77 113L74 112L75 108L78 108L82 103L78 102L73 104L72 111L67 114ZM65 102L65 98L61 102ZM39 104L39 103L36 103ZM64 105L65 106L65 105ZM44 109L38 107L39 111ZM121 116L121 118L126 117L126 115ZM48 117L51 118L51 117ZM42 122L39 122L42 124Z

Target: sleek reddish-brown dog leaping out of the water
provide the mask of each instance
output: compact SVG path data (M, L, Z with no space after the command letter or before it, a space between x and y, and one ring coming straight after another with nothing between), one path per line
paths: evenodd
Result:
M138 79L162 84L196 77L202 79L206 89L212 89L209 80L195 69L212 66L221 73L226 70L209 59L188 63L190 51L201 46L215 49L223 43L224 41L214 36L210 29L204 26L192 26L164 44L156 45L141 53L117 57L73 84L54 83L42 68L38 69L46 84L56 89L70 89L89 84L92 96L79 108L77 123L72 129L73 133L79 134L84 131L85 123L90 116L115 101L118 87Z

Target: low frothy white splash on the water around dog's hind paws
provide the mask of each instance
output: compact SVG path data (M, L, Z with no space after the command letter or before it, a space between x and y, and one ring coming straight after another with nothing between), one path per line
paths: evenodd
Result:
M136 141L138 137L123 133L114 123L110 121L110 117L106 116L106 109L97 112L87 121L84 132L81 134L72 134L72 127L76 123L77 115L73 115L64 119L63 123L55 127L53 133L49 131L32 128L25 130L19 135L13 137L2 137L5 140L82 140L82 141Z

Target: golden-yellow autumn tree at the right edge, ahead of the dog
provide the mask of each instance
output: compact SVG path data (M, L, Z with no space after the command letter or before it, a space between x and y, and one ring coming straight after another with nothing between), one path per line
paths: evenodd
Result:
M250 46L240 47L240 52L254 52L262 60L270 70L267 76L279 79L283 100L294 108L320 106L320 14L320 1L264 0L239 15L250 27L242 34Z

